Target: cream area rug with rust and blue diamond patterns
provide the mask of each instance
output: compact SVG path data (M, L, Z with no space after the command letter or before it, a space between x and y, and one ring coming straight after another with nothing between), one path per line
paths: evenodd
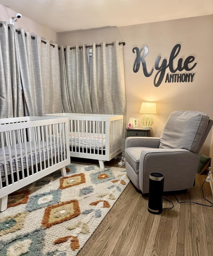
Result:
M11 194L0 213L1 256L77 255L125 189L125 169L72 163Z

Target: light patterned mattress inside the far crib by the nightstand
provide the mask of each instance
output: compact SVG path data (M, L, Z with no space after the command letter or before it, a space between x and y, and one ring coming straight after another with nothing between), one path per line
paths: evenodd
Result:
M106 134L69 132L69 142L72 147L102 149L106 147Z

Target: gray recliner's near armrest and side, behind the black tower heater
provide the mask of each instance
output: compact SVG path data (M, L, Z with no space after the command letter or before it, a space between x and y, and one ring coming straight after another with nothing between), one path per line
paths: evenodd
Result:
M193 186L200 156L185 149L144 149L140 154L139 186L148 193L149 174L164 175L164 191Z

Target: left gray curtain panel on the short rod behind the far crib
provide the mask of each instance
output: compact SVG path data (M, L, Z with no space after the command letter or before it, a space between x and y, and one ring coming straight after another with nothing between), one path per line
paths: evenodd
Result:
M62 106L63 112L88 114L92 113L89 48L79 46L67 46L65 56L60 50Z

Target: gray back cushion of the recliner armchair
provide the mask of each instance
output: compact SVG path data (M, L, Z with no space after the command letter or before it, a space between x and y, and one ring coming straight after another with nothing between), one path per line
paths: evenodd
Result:
M196 152L208 125L207 114L195 111L174 111L160 137L160 149L186 149Z

